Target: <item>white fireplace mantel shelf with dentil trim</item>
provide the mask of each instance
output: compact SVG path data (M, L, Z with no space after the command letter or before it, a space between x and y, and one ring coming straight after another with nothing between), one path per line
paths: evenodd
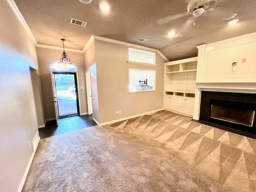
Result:
M196 82L196 88L256 90L256 82Z

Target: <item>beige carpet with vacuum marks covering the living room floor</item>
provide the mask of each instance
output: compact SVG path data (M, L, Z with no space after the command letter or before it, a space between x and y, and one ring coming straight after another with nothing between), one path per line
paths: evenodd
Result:
M167 111L42 139L23 192L254 192L256 140Z

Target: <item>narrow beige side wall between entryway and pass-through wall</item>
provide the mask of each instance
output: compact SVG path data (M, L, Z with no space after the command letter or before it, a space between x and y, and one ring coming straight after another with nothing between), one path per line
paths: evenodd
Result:
M93 118L99 122L98 85L94 41L84 53L84 58L86 71L90 70L91 74Z

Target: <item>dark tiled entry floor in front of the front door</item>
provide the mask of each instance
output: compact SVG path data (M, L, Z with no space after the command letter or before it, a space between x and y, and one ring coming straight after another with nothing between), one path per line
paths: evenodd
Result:
M97 124L92 119L92 115L83 115L59 119L59 126L56 126L55 120L48 121L44 128L39 128L38 130L42 139L95 125Z

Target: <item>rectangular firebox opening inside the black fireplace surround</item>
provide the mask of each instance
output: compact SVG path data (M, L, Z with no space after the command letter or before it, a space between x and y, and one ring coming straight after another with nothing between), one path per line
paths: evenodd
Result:
M253 126L255 110L236 109L226 106L211 106L211 118L232 122L236 124Z

